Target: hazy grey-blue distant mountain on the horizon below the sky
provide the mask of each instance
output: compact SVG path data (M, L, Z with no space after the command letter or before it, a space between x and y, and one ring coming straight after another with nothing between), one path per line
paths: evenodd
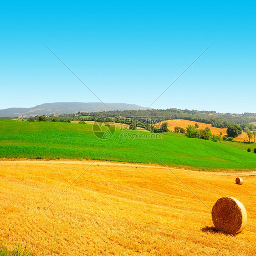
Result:
M108 107L106 107L105 105ZM20 117L51 114L72 114L81 112L100 112L107 110L143 110L144 108L126 103L102 103L102 102L55 102L44 103L33 108L6 108L0 109L0 117Z

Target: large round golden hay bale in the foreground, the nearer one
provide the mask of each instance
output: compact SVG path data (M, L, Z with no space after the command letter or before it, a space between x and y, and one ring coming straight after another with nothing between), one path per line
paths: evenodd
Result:
M222 197L212 207L211 218L217 230L236 234L245 228L247 213L236 198Z

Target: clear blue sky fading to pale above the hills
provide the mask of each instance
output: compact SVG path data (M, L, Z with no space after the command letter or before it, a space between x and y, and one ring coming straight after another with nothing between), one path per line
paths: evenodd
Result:
M1 1L0 109L148 107L211 45L152 107L255 113L255 14L255 1Z

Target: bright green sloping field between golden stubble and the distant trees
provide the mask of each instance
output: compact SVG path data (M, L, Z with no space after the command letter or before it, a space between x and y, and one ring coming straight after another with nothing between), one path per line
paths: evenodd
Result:
M175 133L165 133L163 139L120 139L120 135L123 132L117 130L112 138L100 140L92 133L90 124L2 119L0 158L98 159L198 170L256 169L256 154L224 143Z

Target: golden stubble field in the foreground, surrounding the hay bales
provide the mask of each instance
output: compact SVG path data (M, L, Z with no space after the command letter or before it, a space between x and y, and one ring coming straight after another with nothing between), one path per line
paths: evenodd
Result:
M231 173L1 161L0 240L36 255L256 255L256 176L247 175L237 185ZM223 196L246 207L237 235L213 227L211 208Z

